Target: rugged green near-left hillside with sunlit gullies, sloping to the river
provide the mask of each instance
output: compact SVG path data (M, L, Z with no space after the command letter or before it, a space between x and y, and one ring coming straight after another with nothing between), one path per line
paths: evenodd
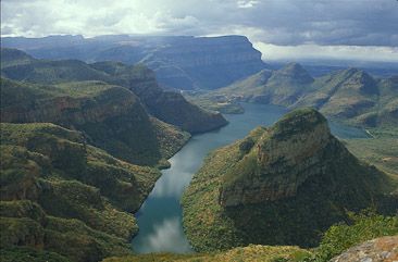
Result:
M138 227L126 211L140 207L160 176L48 123L1 123L1 248L72 261L129 253Z

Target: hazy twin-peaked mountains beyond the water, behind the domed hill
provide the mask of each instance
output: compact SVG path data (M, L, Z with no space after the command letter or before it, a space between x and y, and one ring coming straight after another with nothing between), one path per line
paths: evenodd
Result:
M277 71L261 71L198 96L197 100L272 103L291 109L313 107L339 121L381 126L398 123L397 98L395 76L375 79L364 71L347 68L312 78L301 65L290 63Z

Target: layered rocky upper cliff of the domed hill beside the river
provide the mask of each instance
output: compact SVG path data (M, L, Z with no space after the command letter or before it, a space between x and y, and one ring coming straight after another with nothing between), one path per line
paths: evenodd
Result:
M237 163L220 191L224 207L294 197L310 176L327 174L350 154L315 110L288 114L269 128Z

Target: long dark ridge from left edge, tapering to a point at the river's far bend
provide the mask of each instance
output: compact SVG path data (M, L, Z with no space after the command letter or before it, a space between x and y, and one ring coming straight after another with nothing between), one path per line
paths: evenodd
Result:
M153 72L141 64L37 60L13 49L2 49L1 54L8 58L2 63L1 75L14 80L35 84L100 80L123 86L137 95L153 116L189 133L211 130L227 123L220 113L204 111L186 101L181 93L164 91L158 86ZM17 63L20 57L27 57L29 62Z

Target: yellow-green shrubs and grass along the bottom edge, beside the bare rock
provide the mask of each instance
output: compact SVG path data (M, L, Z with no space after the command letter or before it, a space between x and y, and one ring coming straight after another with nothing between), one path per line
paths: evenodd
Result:
M398 234L397 216L377 215L366 210L349 213L345 223L331 226L319 247L300 249L294 246L261 246L233 248L226 251L194 254L150 253L107 258L103 262L135 261L263 261L263 262L326 262L345 250L382 236Z

